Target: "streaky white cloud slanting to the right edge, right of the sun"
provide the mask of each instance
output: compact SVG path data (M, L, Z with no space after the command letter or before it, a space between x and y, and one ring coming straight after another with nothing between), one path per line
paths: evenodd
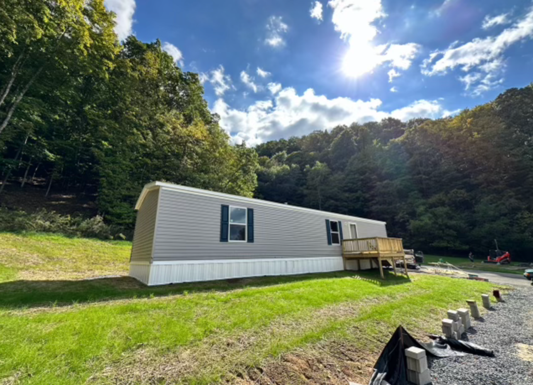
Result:
M499 76L505 69L505 51L511 45L531 37L533 37L533 9L499 35L474 38L463 45L454 44L447 50L432 52L430 57L424 60L422 73L428 76L443 75L456 67L465 72L483 71L486 73L484 76L474 73L470 77L460 78L466 89L470 89L475 82L480 82L479 87L474 88L474 94L480 94L503 82Z

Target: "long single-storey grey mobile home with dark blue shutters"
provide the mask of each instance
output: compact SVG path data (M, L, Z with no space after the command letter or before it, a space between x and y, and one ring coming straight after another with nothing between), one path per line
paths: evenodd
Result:
M387 237L381 221L163 182L135 209L130 275L147 285L370 268L343 240Z

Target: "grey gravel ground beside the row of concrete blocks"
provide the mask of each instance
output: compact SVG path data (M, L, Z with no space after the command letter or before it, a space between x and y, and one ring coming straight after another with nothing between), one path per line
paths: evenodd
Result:
M433 385L533 384L533 363L520 359L516 346L533 346L533 287L516 289L504 298L505 302L492 303L494 310L484 319L472 319L475 331L467 334L468 341L494 350L496 357L428 357Z

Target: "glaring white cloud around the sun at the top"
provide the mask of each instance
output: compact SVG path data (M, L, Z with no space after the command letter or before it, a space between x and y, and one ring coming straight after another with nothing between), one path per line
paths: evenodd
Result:
M381 0L330 0L328 6L335 30L350 44L343 62L346 75L357 77L386 62L404 70L411 66L421 48L418 44L372 44L379 33L375 23L386 17Z

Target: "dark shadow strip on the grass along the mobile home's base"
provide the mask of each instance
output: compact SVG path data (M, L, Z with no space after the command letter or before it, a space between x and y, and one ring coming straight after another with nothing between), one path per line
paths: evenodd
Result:
M184 293L224 292L245 287L263 287L328 278L354 278L378 286L409 282L403 276L378 271L338 271L321 274L224 279L209 282L146 286L131 277L104 277L84 280L13 280L0 283L0 309L69 306L75 303L120 299L163 297Z

